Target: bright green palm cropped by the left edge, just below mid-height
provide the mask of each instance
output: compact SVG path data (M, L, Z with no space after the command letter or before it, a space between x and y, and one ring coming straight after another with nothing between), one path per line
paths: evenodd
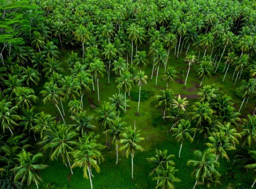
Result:
M11 128L18 126L16 120L20 120L20 116L17 115L17 106L12 106L12 102L6 102L6 100L0 101L0 121L3 128L3 133L8 128L13 134Z

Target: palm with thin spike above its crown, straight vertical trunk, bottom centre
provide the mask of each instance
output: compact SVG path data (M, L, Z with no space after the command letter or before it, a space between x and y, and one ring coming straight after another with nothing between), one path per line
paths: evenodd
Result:
M126 128L126 132L122 134L123 139L119 140L118 144L120 144L120 151L125 151L125 155L128 156L131 154L131 178L133 179L133 159L135 155L135 151L144 151L143 147L138 145L138 142L144 140L143 137L140 137L140 131L136 131L135 122L134 129L130 127Z

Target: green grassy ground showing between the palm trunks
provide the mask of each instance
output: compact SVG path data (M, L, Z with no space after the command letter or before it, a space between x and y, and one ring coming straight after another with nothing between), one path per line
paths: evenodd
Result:
M143 48L143 50L148 50L147 48ZM68 75L67 65L65 64L65 60L68 58L68 51L61 51L61 62L63 62L63 68L65 69L64 75ZM149 58L149 57L148 57ZM188 64L183 61L184 55L182 54L179 58L175 58L172 53L170 53L168 65L175 67L178 71L183 69L187 71ZM150 61L151 62L151 61ZM174 90L175 94L182 95L191 95L196 94L198 92L198 84L200 83L199 79L196 76L195 69L197 65L193 65L192 69L189 73L187 87L184 89L184 84L180 82L170 82L169 87ZM223 70L223 63L220 66L220 70ZM150 90L154 95L159 94L161 89L164 89L166 86L166 81L161 81L161 76L163 72L163 67L160 68L157 86L155 86L155 78L153 76L152 81L150 81L151 76L151 64L145 69L145 73L148 75L148 84L144 85L142 89ZM221 91L227 93L229 96L233 98L233 102L235 102L236 108L239 108L241 104L241 100L237 99L234 93L234 89L239 86L240 81L236 84L236 87L233 87L232 72L230 69L230 73L227 74L225 82L222 82L224 74L217 73L212 76L210 79L206 78L203 82L203 85L213 84L215 83L217 86L221 88ZM185 77L185 76L184 76ZM96 93L87 93L84 96L84 107L90 114L96 114L96 112L90 107L89 100L93 99L93 103L100 107L102 102L108 101L108 98L112 96L113 93L118 93L116 89L116 85L114 83L114 77L111 77L111 82L108 84L107 75L105 78L99 80L100 87L100 103L97 102L97 94ZM35 87L35 92L37 96L39 96L40 101L36 105L35 110L37 112L44 111L45 113L50 113L52 116L58 116L58 110L53 107L51 104L44 105L42 102L42 97L39 92L42 90L42 85L46 79L42 81L42 83ZM131 90L137 91L138 87L134 86ZM96 189L115 189L115 188L138 188L138 189L151 189L156 186L156 182L152 181L151 177L148 173L151 171L151 165L145 160L147 157L152 157L154 155L154 149L167 149L170 154L175 154L174 161L176 163L176 168L179 169L176 176L181 179L180 183L176 183L176 188L192 188L195 179L191 177L191 168L186 166L186 162L189 159L193 158L193 150L200 149L204 150L206 146L206 140L202 139L201 142L197 145L198 138L195 138L195 142L190 144L189 142L185 142L183 145L183 149L181 151L181 158L178 158L178 151L180 144L177 143L172 134L167 133L167 130L170 128L171 123L168 121L163 121L160 119L161 110L154 107L154 95L151 96L145 102L140 103L140 116L136 116L137 110L137 102L130 100L128 105L130 108L128 109L125 115L121 115L122 119L127 122L128 125L133 125L134 120L136 120L137 129L141 131L142 137L145 138L141 145L145 149L145 152L138 152L135 154L134 158L134 180L131 179L131 159L127 159L124 154L119 155L119 163L115 165L115 149L113 147L106 149L103 154L105 157L105 162L100 165L101 172L98 174L93 170L93 186ZM195 102L195 99L189 99L190 104ZM66 120L70 116L68 113L67 103L64 102L64 111L66 114ZM188 111L192 109L188 107ZM246 115L249 111L253 110L253 103L249 102L247 109L242 109L242 114ZM96 115L95 115L96 116ZM153 122L155 123L154 126ZM157 123L157 124L156 124ZM95 125L98 125L95 123ZM96 131L99 134L102 134L102 131ZM104 144L105 135L102 134L101 142ZM232 157L233 152L229 153ZM231 158L231 162L227 162L226 160L220 160L221 166L219 168L219 172L222 174L221 177L221 188L227 188L227 186L233 186L234 188L246 188L244 187L244 183L249 186L252 181L249 175L243 174L243 171L240 169L236 169L236 166L232 165L233 159ZM49 168L41 171L42 178L44 183L52 183L55 184L56 188L70 188L70 189L78 189L78 188L90 188L89 180L83 178L81 169L74 169L74 174L70 177L70 169L66 168L65 165L62 164L61 161L49 161L48 157L44 158L44 163L49 165ZM43 187L43 184L41 184ZM197 188L204 188L205 186L197 186Z

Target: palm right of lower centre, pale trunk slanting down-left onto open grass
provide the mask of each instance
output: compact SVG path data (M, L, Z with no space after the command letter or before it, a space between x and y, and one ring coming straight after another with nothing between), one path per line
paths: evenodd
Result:
M190 136L190 134L195 132L195 128L191 128L190 120L181 119L178 125L178 128L173 128L172 131L175 132L175 134L173 134L172 137L175 137L177 142L181 141L180 151L179 151L179 158L180 158L180 152L183 145L183 140L186 137L186 139L192 143L194 140Z

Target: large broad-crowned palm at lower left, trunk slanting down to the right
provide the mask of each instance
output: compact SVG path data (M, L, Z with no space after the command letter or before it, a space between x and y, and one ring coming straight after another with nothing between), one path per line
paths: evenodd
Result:
M44 145L44 151L50 149L50 159L57 160L58 157L62 159L62 162L66 164L68 162L70 166L71 174L73 170L71 168L71 158L69 152L74 151L74 147L78 145L76 133L72 127L66 125L57 125L56 127L51 127L47 130L39 145ZM67 165L67 164L66 164Z

